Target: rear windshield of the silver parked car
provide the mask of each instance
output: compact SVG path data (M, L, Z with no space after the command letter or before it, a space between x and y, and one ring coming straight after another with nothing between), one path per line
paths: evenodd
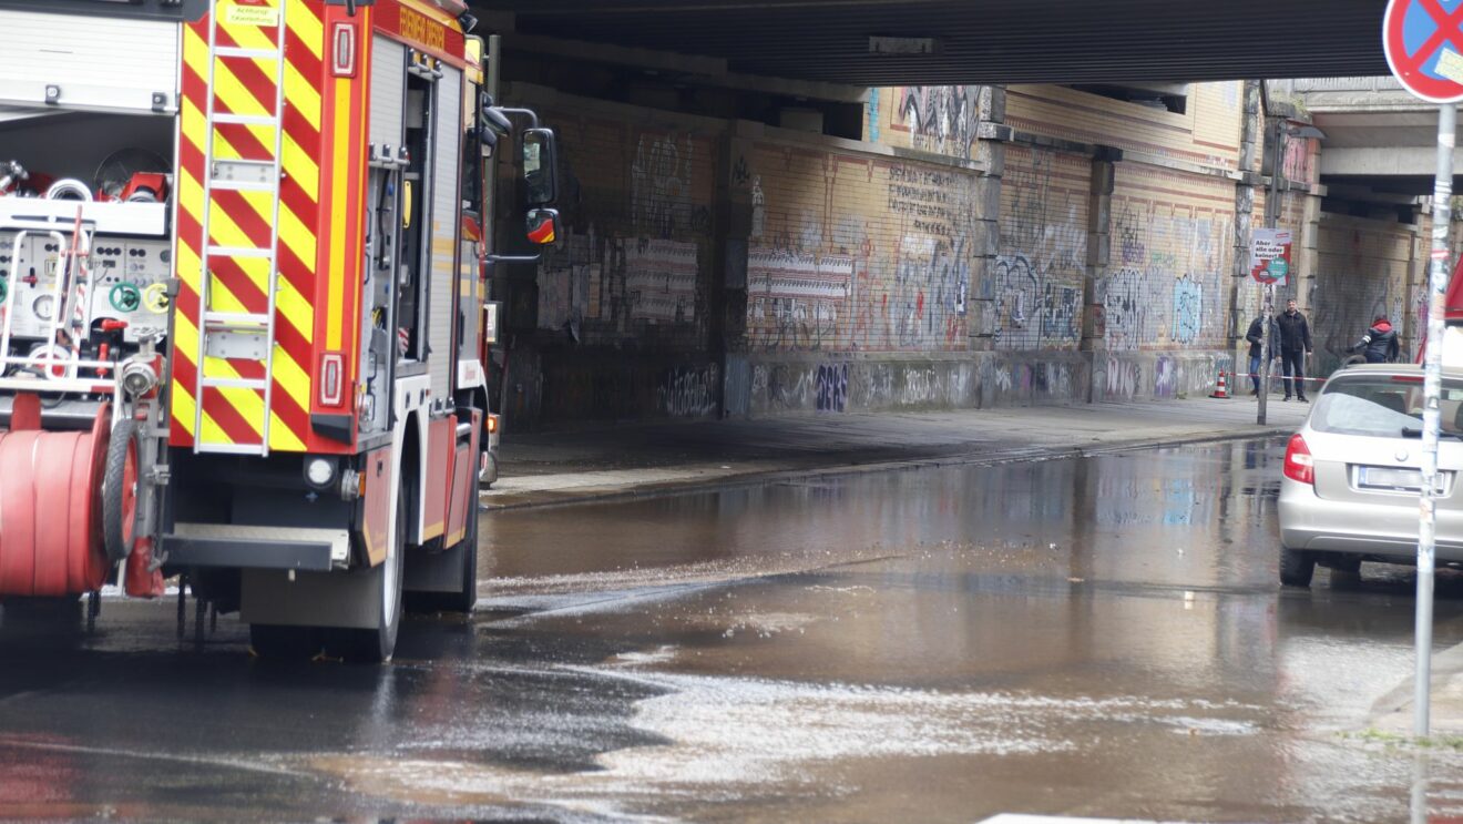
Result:
M1443 432L1463 433L1463 381L1444 381ZM1422 429L1421 375L1333 378L1311 413L1311 429L1337 435L1400 438Z

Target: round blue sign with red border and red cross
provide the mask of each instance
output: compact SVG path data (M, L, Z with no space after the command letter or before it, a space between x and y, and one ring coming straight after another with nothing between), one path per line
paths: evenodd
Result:
M1381 41L1409 92L1431 102L1463 101L1463 0L1388 0Z

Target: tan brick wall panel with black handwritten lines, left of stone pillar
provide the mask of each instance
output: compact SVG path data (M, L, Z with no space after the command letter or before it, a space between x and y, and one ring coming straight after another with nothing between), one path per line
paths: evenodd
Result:
M752 196L749 351L967 348L974 173L767 139L736 168Z

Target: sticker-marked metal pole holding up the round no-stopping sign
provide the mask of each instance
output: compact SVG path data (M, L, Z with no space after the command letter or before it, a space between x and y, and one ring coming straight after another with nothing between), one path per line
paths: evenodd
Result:
M1448 291L1448 225L1453 201L1453 145L1457 104L1438 107L1438 176L1432 183L1432 271L1428 278L1428 353L1423 364L1422 496L1418 525L1418 615L1412 735L1428 735L1432 681L1432 572L1437 540L1438 430L1443 394L1443 303Z

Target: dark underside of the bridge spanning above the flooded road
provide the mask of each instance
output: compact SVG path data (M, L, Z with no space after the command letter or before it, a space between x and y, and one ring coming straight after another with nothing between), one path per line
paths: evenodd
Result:
M1384 0L474 0L497 31L851 86L1384 75Z

